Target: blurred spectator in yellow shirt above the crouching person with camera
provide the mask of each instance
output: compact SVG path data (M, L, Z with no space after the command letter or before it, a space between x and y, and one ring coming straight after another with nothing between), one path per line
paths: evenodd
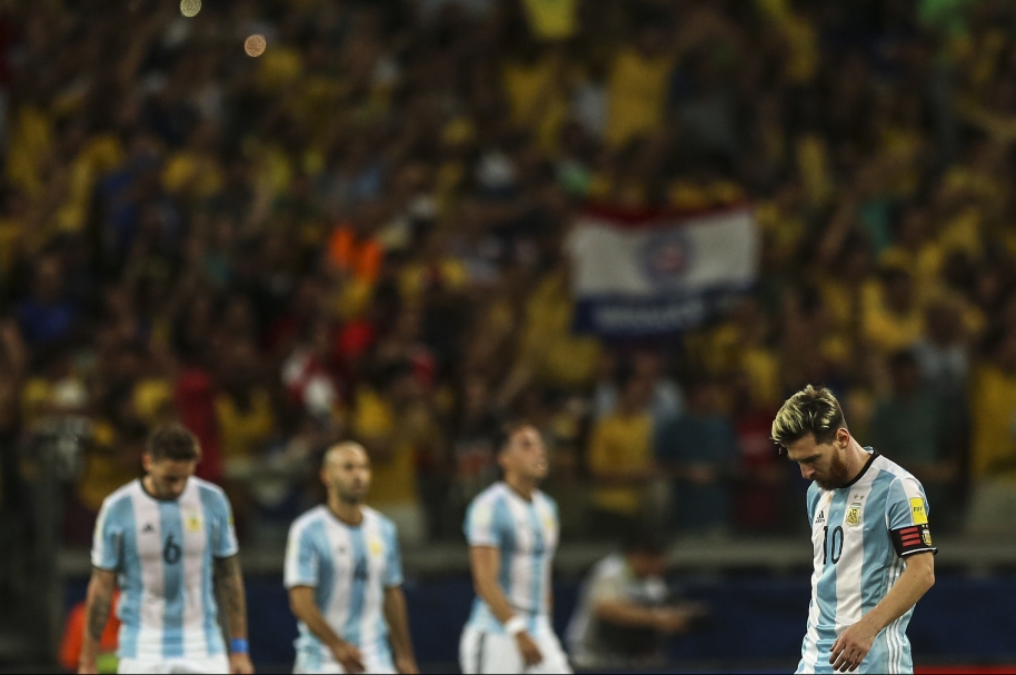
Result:
M629 532L646 506L644 492L655 473L648 409L655 386L655 380L634 371L622 374L617 406L592 427L587 459L597 530Z

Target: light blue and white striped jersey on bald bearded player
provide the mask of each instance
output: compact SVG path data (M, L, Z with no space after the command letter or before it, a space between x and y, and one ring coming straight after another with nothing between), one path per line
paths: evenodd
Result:
M395 524L362 508L358 526L339 520L326 505L310 509L289 528L286 545L287 588L311 586L325 621L339 637L356 645L368 663L392 671L385 589L401 586L402 563ZM337 665L331 651L300 622L298 658L313 672Z

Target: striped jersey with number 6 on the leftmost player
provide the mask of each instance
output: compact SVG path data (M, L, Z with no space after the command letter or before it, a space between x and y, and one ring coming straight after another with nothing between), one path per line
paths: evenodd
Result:
M92 565L118 574L121 658L207 658L226 652L212 588L212 558L239 550L226 494L189 478L177 499L156 499L141 480L106 498Z

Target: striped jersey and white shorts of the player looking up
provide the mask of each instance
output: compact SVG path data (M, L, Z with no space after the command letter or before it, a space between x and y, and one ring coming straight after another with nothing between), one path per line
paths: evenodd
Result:
M498 585L526 621L544 661L525 668L516 639L481 598L472 605L459 644L464 673L570 673L550 623L550 575L558 544L557 504L536 490L526 500L505 483L480 493L466 515L469 546L498 549Z

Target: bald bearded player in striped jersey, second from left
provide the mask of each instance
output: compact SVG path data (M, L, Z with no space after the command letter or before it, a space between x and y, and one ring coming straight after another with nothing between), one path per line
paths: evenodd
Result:
M363 506L370 460L332 446L321 480L328 503L292 524L286 587L299 622L295 673L418 673L395 524Z

